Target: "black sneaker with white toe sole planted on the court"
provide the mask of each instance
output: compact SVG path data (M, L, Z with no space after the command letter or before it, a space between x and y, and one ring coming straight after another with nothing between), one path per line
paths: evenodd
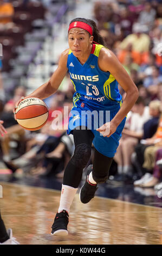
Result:
M68 235L67 225L69 223L69 215L66 210L56 214L52 225L51 235L66 236Z

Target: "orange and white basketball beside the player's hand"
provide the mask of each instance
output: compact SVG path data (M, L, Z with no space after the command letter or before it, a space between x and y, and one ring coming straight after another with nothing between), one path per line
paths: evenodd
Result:
M16 109L16 120L24 129L39 130L48 119L47 105L36 97L22 100Z

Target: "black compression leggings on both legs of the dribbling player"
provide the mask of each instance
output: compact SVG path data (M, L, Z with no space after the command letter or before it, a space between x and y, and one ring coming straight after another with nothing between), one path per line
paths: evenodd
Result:
M86 167L90 154L94 135L90 130L74 130L75 150L72 159L64 170L63 184L77 188L82 178L83 168ZM94 151L93 178L96 182L106 179L113 157L107 157Z

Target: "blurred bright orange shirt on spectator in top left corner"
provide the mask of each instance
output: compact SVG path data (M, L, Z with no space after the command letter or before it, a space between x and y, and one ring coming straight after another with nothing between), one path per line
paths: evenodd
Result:
M12 22L12 15L14 14L14 8L11 3L4 3L0 0L0 23L6 24Z

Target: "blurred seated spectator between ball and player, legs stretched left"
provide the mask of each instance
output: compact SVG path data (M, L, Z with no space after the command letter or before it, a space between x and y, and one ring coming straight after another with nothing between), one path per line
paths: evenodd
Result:
M5 162L16 176L22 174L55 175L64 170L69 158L72 156L74 150L73 139L64 134L66 133L68 116L64 118L62 101L59 100L59 97L61 99L61 94L60 96L59 94L50 100L50 117L47 124L27 142L27 153L14 161ZM64 102L64 106L68 106L68 112L70 112L73 103ZM57 111L57 113L52 114L54 111ZM61 126L57 126L56 130L53 127L53 121L55 118L58 120L59 113ZM48 155L48 153L51 154Z

